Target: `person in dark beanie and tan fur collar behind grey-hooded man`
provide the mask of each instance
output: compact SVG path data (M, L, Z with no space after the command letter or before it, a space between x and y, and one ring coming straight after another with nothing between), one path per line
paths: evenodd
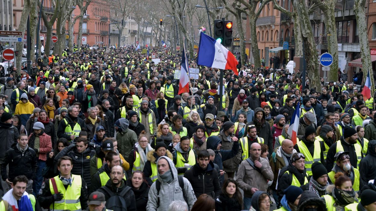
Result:
M173 159L173 155L167 149L167 145L164 142L156 142L154 149L147 152L146 154L147 161L145 163L143 172L144 178L150 186L153 184L153 182L155 182L158 179L158 172L156 172L156 161L158 160L158 158L162 156L167 156L171 160Z

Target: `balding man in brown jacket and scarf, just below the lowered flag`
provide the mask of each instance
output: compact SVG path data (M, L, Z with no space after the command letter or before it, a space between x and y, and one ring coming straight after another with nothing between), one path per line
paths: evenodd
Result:
M294 149L294 143L290 139L284 139L282 141L282 146L278 146L274 149L274 152L269 161L271 170L274 172L274 178L278 177L280 169L282 169L284 166L288 166L290 157L292 154L294 154L294 152L296 152L296 150ZM277 179L274 179L273 184L271 184L271 190L273 190L274 199L278 199L276 184ZM276 200L277 203L279 201L280 200Z

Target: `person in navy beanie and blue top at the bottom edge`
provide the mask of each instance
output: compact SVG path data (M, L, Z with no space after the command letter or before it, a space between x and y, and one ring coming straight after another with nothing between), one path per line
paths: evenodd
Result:
M303 190L300 187L294 185L289 186L284 191L284 196L281 199L282 207L275 211L296 211L299 204L300 196L302 196Z

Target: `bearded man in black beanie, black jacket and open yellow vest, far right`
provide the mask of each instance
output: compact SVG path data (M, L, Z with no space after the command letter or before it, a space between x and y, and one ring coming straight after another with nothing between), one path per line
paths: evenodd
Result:
M356 133L354 128L344 128L343 136L341 136L340 140L335 142L328 150L326 157L326 169L328 172L331 172L333 169L336 162L335 154L339 151L348 151L351 166L359 169L359 163L363 157L363 152L361 145L357 144L357 140L358 133Z

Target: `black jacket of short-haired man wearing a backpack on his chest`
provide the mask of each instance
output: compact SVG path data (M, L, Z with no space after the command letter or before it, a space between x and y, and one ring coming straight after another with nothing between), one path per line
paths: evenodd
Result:
M121 185L120 187L116 187L114 185L112 185L112 182L111 182L111 179L109 179L105 185L106 187L108 187L110 190L112 190L112 194L116 194L116 193L120 193L126 186L127 186L127 181L125 181L124 179L121 181ZM107 191L103 190L102 188L99 188L97 191L99 192L102 192L103 194L105 194L105 199L106 201L108 201L108 199L111 197ZM135 194L133 193L132 190L129 190L125 196L124 196L124 200L127 204L127 211L136 211L137 208L136 208L136 199L135 199Z

